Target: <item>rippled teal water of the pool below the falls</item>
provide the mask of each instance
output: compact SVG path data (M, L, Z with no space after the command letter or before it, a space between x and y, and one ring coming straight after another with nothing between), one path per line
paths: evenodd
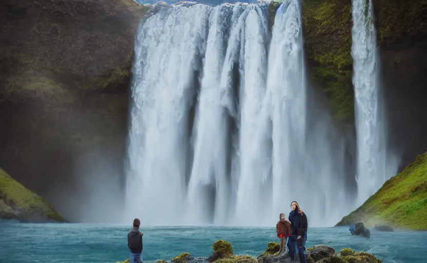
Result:
M110 263L128 258L128 226L93 224L0 223L0 262ZM144 262L189 252L209 256L218 239L231 242L235 254L257 256L269 241L278 241L272 228L151 227L144 233ZM325 244L374 253L383 262L427 262L427 232L378 232L371 238L352 236L346 227L308 229L306 247Z

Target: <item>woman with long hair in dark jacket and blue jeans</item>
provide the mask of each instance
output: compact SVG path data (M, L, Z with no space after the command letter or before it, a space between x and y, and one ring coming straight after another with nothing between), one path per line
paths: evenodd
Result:
M292 232L288 238L287 247L289 256L295 260L295 245L298 247L298 255L301 263L306 263L305 259L305 241L307 240L307 216L302 212L297 201L290 203L292 211L289 213L290 228Z

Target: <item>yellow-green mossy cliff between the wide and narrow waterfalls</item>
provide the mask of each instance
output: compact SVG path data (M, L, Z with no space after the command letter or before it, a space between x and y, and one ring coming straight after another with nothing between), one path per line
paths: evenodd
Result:
M351 0L302 2L308 72L330 101L334 119L354 120Z

